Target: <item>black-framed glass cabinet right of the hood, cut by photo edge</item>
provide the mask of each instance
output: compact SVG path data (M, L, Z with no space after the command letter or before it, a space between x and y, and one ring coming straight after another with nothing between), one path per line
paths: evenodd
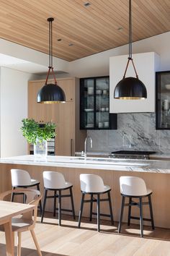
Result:
M170 71L156 72L156 129L170 129Z

